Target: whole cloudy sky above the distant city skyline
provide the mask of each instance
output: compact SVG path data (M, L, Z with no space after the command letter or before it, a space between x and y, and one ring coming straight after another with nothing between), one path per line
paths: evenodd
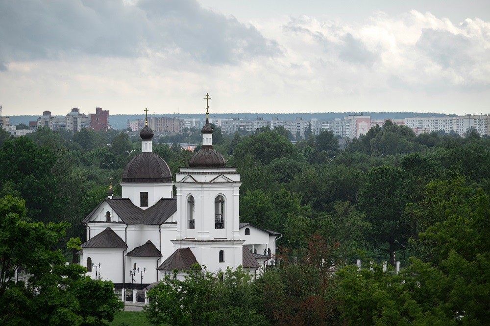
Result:
M0 0L3 115L490 113L488 0Z

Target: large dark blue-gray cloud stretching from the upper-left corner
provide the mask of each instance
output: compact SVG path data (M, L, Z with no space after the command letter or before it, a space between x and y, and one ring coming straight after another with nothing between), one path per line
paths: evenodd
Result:
M16 0L0 2L0 61L62 55L136 57L147 49L208 64L280 54L254 26L196 0Z

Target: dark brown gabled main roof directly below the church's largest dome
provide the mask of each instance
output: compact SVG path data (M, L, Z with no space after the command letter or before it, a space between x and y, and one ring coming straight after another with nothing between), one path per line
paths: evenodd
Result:
M118 214L125 224L163 224L173 213L177 211L176 198L161 198L155 205L146 210L142 210L134 205L129 198L105 198L98 207L93 210L83 222L90 222L90 219L96 214L100 206L104 203Z

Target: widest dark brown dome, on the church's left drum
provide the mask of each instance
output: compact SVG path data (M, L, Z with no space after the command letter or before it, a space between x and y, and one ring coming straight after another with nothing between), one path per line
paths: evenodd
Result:
M127 163L123 172L123 182L172 182L172 172L167 162L158 155L150 152L140 153Z

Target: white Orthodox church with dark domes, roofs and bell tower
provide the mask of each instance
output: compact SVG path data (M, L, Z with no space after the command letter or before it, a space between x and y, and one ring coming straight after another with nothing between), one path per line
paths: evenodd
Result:
M109 186L82 222L86 239L78 254L87 275L112 280L116 288L143 288L174 269L183 278L193 263L211 272L241 265L251 274L275 263L281 234L240 223L240 173L213 149L208 108L202 149L175 182L152 152L153 131L147 123L140 131L141 153L124 169L122 197Z

